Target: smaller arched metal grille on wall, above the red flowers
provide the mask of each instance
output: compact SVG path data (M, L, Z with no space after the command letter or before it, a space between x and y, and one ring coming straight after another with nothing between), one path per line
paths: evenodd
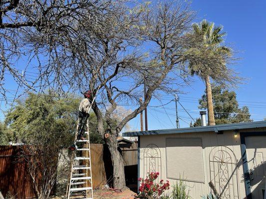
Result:
M161 151L155 144L149 144L144 150L144 173L146 177L150 172L159 172L161 174ZM157 179L159 181L159 179Z

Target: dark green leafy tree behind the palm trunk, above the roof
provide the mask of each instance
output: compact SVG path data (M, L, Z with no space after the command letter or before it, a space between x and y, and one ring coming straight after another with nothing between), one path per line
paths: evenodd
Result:
M237 94L229 91L225 86L212 85L215 122L217 124L250 122L248 106L239 107ZM199 100L199 108L207 108L206 94Z

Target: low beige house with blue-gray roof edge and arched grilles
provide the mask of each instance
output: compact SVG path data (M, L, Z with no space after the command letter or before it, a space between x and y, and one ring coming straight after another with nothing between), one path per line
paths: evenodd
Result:
M138 136L138 177L183 179L193 199L264 199L266 121L126 132ZM170 190L171 191L171 190Z

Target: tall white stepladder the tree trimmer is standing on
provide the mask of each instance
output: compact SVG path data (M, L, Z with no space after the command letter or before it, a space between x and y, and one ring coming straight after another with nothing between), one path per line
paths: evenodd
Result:
M66 191L67 199L71 198L93 199L88 119L86 123L86 129L87 130L85 131L86 135L85 139L77 140L78 136L78 125L77 125L76 134L75 134L76 150L73 151L71 155L71 161L70 161L71 171ZM78 147L77 146L78 144L81 145L81 147ZM79 156L80 153L82 154L81 156ZM82 162L81 165L80 161Z

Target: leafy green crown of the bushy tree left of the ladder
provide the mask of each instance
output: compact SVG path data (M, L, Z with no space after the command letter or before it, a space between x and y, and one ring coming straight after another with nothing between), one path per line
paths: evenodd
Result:
M29 93L25 101L8 111L5 123L13 131L12 141L37 144L52 140L67 147L72 140L77 120L77 98L59 98L55 93Z

